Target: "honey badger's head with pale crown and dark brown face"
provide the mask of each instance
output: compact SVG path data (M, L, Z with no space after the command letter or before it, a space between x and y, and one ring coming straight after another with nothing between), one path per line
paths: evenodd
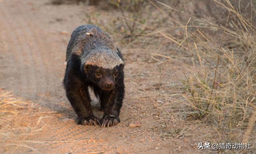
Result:
M86 56L83 67L91 82L102 90L112 90L123 76L124 62L112 50L95 50Z

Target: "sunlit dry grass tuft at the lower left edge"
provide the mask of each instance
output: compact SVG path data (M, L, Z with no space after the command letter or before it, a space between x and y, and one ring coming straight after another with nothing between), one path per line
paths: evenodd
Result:
M0 90L0 144L3 151L10 152L13 147L36 150L23 143L27 136L40 134L45 116L39 116L38 108L28 101L16 99L12 92ZM31 116L33 118L31 118Z

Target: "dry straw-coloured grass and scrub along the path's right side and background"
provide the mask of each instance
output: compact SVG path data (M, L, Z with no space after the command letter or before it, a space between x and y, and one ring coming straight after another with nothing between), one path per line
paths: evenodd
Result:
M157 64L160 74L161 68L173 60L184 66L181 82L182 97L186 100L177 97L176 101L186 104L185 110L190 112L185 116L187 120L200 119L215 127L224 135L220 140L253 141L256 135L254 2L207 0L186 4L185 0L174 0L167 4L148 0L145 8L154 11L133 10L126 16L121 9L122 17L119 21L113 19L110 27L116 26L114 30L122 36L127 36L126 30L128 36L136 36L137 39L130 40L131 48L146 48L144 62ZM113 33L113 28L106 26L106 29ZM149 50L150 46L158 49L157 53ZM160 97L163 95L158 93Z

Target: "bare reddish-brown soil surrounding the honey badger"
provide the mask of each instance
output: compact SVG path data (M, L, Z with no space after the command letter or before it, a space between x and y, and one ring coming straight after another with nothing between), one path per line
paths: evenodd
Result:
M11 133L1 138L0 153L198 153L197 143L206 138L208 128L200 130L202 125L176 118L184 104L152 97L161 78L168 80L162 85L171 87L168 94L178 92L176 70L181 69L166 64L160 76L156 65L138 60L140 49L122 48L126 57L122 122L111 128L76 125L62 87L65 51L72 30L86 24L81 16L95 11L92 6L54 6L47 0L0 0L0 88L30 102L27 110L19 111L22 116L15 116L13 128L5 130ZM169 107L156 108L161 103ZM102 112L95 113L102 116ZM142 126L130 128L134 121ZM166 127L173 132L166 132Z

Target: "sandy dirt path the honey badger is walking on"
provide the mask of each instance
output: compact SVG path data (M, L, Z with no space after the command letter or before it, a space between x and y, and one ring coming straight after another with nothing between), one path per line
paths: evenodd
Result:
M87 13L95 11L86 8ZM152 108L150 99L136 99L134 85L142 81L134 75L145 69L136 62L126 63L126 98L120 118L123 122L112 128L76 125L76 118L62 87L65 51L74 28L86 24L78 16L84 6L50 5L47 0L0 0L0 88L13 91L15 96L35 104L42 114L26 116L20 128L26 135L12 136L2 143L23 146L5 147L3 154L169 154L181 152L183 139L163 140L148 124L154 122L152 113L140 111ZM125 50L124 50L125 52ZM124 53L125 54L125 53ZM142 67L143 66L143 67ZM155 80L153 77L152 80ZM145 81L149 82L149 81ZM132 86L133 85L133 86ZM140 85L140 84L138 84ZM149 84L149 87L152 86ZM138 97L139 98L139 97ZM141 101L141 100L140 100ZM47 112L47 113L46 113ZM102 113L96 111L96 115ZM142 126L129 128L131 121ZM39 121L39 122L38 122ZM156 120L157 121L157 120ZM187 142L187 141L186 141ZM195 142L196 143L196 142ZM187 148L185 148L186 151ZM182 150L184 150L182 148ZM185 152L184 151L184 152ZM97 153L97 154L98 154Z

